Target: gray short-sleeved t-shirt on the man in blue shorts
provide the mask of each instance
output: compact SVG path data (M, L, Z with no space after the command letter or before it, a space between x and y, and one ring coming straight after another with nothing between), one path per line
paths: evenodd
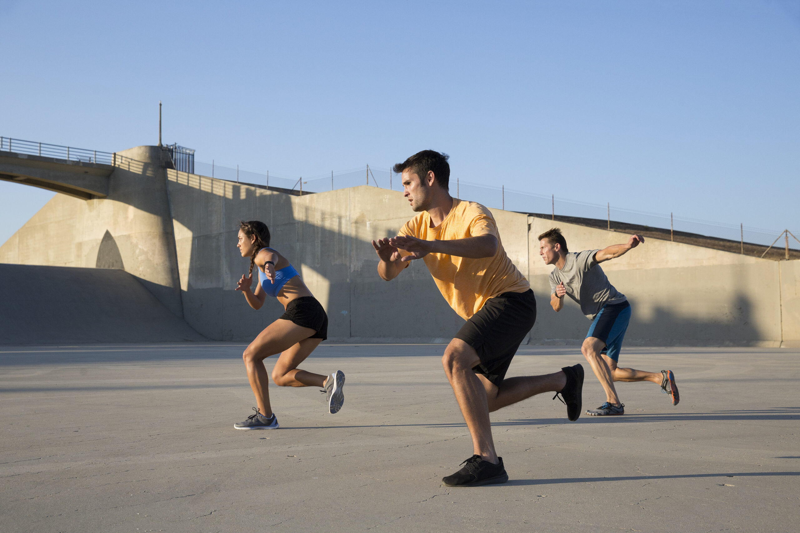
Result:
M598 250L567 253L564 268L559 270L556 267L550 272L550 294L555 294L556 286L563 283L567 296L581 306L581 312L589 320L594 320L603 305L621 304L627 300L609 283L606 272L594 261L595 253Z

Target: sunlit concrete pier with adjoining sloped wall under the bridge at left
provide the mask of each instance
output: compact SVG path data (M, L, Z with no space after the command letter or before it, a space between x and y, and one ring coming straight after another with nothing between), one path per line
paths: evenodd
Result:
M124 268L176 316L183 308L157 146L118 152L108 197L57 194L0 246L0 263Z

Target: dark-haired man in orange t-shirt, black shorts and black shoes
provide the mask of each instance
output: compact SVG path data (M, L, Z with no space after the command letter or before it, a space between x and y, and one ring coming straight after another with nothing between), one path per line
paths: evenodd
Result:
M394 172L402 173L404 196L419 214L398 237L372 245L380 258L378 274L387 281L410 261L425 261L442 296L466 320L447 345L442 365L470 429L474 455L442 481L450 487L476 487L508 480L494 450L489 413L556 392L567 417L578 420L583 367L505 379L519 344L534 326L534 292L506 255L489 209L450 196L447 159L444 153L423 150L394 165Z

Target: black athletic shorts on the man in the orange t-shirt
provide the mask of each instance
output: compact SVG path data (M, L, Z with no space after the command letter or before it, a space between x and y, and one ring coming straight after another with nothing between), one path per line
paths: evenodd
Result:
M462 326L455 338L478 352L480 364L472 368L476 374L498 387L522 339L536 322L534 292L503 292L486 300L486 304Z

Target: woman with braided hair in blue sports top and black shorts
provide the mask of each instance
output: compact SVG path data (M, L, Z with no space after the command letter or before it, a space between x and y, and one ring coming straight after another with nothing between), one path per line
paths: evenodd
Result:
M281 354L272 369L272 380L279 387L321 387L326 392L328 411L338 412L344 404L345 375L341 370L321 376L298 368L328 334L325 309L300 279L297 270L280 253L270 248L270 230L259 221L239 222L238 245L242 257L250 257L250 272L242 275L236 290L244 292L251 308L259 309L266 296L274 296L286 312L258 334L242 354L247 379L256 404L254 415L234 424L236 429L278 429L278 419L270 405L266 357ZM258 266L255 292L253 267Z

